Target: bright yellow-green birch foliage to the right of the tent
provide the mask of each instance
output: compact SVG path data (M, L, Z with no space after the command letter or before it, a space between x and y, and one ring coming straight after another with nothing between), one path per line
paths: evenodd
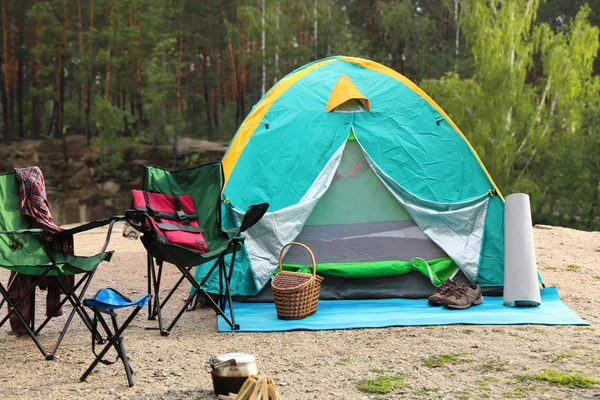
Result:
M599 31L588 22L590 8L557 32L535 23L539 1L472 3L463 26L473 75L450 73L424 89L465 132L504 194L530 194L534 222L600 226L598 162L587 156L600 135L588 122L600 109L592 77Z

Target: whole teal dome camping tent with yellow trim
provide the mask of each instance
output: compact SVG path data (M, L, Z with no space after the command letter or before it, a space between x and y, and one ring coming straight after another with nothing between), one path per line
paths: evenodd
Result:
M290 73L252 108L223 168L224 224L270 204L236 260L237 295L268 287L294 240L315 252L327 298L423 297L452 276L502 286L502 194L448 115L383 65L336 56ZM286 268L308 264L302 251Z

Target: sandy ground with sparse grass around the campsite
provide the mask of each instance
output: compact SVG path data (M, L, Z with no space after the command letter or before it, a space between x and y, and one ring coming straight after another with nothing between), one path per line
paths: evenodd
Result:
M145 293L145 253L139 241L121 237L117 226L110 263L100 265L89 290L113 287L133 296ZM105 229L79 234L77 253L99 250ZM100 365L85 383L79 377L93 359L90 335L75 320L55 361L46 361L29 338L0 328L0 399L211 399L208 359L227 351L256 355L263 373L272 375L284 399L480 399L599 398L600 383L573 388L545 381L522 381L545 369L581 373L600 381L600 232L538 226L537 259L546 284L557 285L565 303L592 327L441 326L286 333L218 333L212 310L187 312L169 337L142 312L126 331L134 370L129 388L120 364ZM176 277L172 266L166 279ZM0 271L2 282L6 271ZM187 287L186 287L187 289ZM177 293L167 316L186 296ZM38 310L43 296L38 295ZM145 310L144 310L145 311ZM0 311L0 317L6 309ZM64 321L64 316L59 317ZM40 335L50 345L55 321ZM434 367L426 357L460 354ZM450 357L452 358L452 357ZM388 394L358 389L362 379L402 377Z

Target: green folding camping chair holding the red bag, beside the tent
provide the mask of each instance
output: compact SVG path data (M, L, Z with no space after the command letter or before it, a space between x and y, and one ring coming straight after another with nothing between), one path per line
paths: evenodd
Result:
M223 230L221 227L221 191L223 189L223 169L220 162L204 164L198 167L169 172L161 168L146 166L144 168L143 190L165 195L190 195L194 202L197 222L204 229L203 235L209 249L206 253L193 251L179 245L169 243L157 235L150 219L158 218L156 210L128 210L125 216L129 223L143 233L141 239L148 252L148 294L153 299L148 306L148 319L158 318L158 329L161 335L167 336L184 311L197 299L204 297L206 304L212 306L232 329L239 329L235 323L233 304L231 301L230 282L234 270L235 255L242 245L242 233L252 227L265 214L268 204L250 206L239 229ZM231 254L231 262L227 268L225 256ZM156 261L156 262L155 262ZM163 263L174 264L181 272L181 277L171 288L164 300L160 298ZM201 282L197 282L191 269L197 265L213 262ZM219 293L216 300L208 294L203 285L213 272L218 271ZM187 280L193 286L193 293L187 298L179 313L165 329L162 309L173 293ZM229 315L225 308L229 303Z

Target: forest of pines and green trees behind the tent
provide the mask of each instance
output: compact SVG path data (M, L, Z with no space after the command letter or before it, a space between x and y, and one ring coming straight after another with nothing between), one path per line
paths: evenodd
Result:
M438 102L536 223L600 230L600 0L0 1L2 146L84 135L118 178L144 144L229 141L310 61L364 57Z

